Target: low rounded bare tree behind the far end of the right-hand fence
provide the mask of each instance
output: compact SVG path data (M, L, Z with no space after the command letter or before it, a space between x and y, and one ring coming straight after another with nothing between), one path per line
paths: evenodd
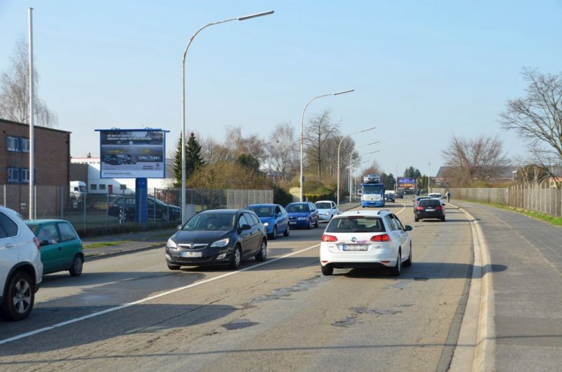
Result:
M498 136L480 136L465 140L452 136L449 146L442 152L445 165L453 170L447 175L451 185L470 185L474 181L487 182L491 175L508 164Z

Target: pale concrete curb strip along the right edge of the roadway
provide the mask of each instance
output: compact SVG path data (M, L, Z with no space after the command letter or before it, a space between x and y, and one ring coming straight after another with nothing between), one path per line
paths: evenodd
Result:
M493 371L495 366L494 293L490 253L481 226L469 212L462 211L471 222L474 264L469 298L462 318L457 346L453 350L451 371Z

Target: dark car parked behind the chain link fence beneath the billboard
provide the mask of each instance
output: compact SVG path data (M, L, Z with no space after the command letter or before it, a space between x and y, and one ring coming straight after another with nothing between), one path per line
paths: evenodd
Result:
M107 208L107 215L119 218L123 210L124 220L134 220L136 218L136 199L135 197L116 197ZM164 203L155 197L147 198L147 215L149 220L179 220L181 218L181 208Z

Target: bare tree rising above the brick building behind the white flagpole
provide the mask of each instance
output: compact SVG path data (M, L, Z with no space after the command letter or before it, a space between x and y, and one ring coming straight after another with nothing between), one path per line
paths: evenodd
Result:
M4 72L0 79L0 117L20 123L29 123L30 74L29 55L25 40L20 39L18 41L11 60L10 71ZM45 101L37 96L39 76L36 69L33 70L33 86L36 124L48 127L55 126L58 122L57 114L48 109Z

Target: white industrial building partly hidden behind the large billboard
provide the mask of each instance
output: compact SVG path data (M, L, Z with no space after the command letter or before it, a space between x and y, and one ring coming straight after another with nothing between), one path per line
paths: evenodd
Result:
M134 178L100 178L100 158L75 158L70 159L71 164L87 164L88 166L88 185L89 194L107 194L112 188L113 194L121 194L121 185L126 186L125 194L135 192ZM167 189L173 187L174 178L174 159L166 159L166 178L148 178L148 194L152 194L155 189Z

